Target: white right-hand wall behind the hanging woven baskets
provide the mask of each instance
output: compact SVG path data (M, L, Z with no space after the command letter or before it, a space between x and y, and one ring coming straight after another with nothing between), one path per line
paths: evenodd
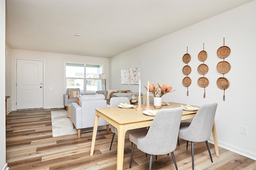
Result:
M140 47L126 51L110 59L110 88L120 90L136 90L138 85L121 85L120 70L140 66L140 78L143 86L147 81L167 83L176 90L163 96L164 101L181 102L201 106L217 102L216 127L220 147L232 150L256 160L256 1L201 21L172 34L166 35ZM203 15L203 14L202 14ZM222 77L217 69L220 59L216 51L223 45L230 47L231 54L225 61L231 64L231 70L225 74L230 86L225 92L216 85L216 80ZM198 53L203 50L208 53L204 62L209 71L205 76L210 84L206 87L206 98L203 98L204 88L198 86L197 80L202 75L197 71ZM182 57L188 53L192 59L188 65L192 68L188 76L192 79L187 89L182 85L186 76L182 73ZM248 135L240 134L240 126L248 128ZM212 137L210 139L212 141ZM220 154L221 156L221 154Z

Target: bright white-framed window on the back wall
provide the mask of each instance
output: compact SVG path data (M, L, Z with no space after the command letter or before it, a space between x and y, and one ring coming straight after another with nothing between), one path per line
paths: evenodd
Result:
M102 65L66 63L66 86L80 88L81 93L96 92L102 88L99 74L102 74Z

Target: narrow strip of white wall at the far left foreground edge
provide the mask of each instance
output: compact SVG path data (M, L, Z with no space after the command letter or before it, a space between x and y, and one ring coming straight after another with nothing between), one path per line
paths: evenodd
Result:
M0 169L7 168L5 141L5 0L0 0Z

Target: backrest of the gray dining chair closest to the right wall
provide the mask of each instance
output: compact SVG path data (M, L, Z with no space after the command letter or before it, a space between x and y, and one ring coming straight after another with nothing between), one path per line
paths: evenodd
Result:
M190 135L190 141L204 142L210 138L217 105L217 103L205 104L198 109L195 117L186 129L186 134Z

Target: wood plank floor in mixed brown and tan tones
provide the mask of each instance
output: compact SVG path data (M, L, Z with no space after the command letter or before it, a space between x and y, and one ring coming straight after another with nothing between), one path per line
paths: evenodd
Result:
M51 110L12 111L7 115L6 162L10 170L114 170L116 169L117 136L109 150L112 133L97 133L94 156L90 156L92 132L52 137ZM226 149L216 157L210 144L213 163L204 142L195 143L195 170L256 170L256 161ZM124 169L129 169L131 143L126 138ZM174 151L179 170L192 169L191 146L186 141ZM147 170L149 156L134 149L131 170ZM172 156L159 155L153 160L153 170L175 169Z

